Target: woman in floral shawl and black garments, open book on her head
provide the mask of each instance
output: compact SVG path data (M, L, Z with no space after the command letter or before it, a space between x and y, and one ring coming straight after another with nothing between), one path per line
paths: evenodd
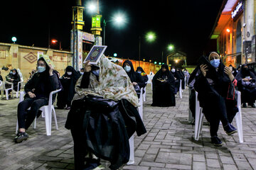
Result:
M137 135L146 132L132 82L122 67L103 56L100 67L85 63L75 91L65 124L74 140L75 169L94 169L100 158L118 169L129 161L129 137L135 130Z

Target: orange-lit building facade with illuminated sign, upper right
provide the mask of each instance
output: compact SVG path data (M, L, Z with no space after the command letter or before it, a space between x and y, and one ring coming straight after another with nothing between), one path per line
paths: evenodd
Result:
M256 0L225 0L211 39L225 65L255 62Z

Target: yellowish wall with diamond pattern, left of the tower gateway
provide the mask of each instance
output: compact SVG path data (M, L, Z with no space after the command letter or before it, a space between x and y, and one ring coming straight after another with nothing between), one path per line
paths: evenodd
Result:
M11 65L9 69L21 69L23 80L26 82L29 77L29 72L31 72L32 69L36 69L38 52L49 55L50 59L55 64L55 69L60 72L60 76L64 74L64 69L68 65L72 65L72 53L68 51L0 43L0 68ZM1 76L4 80L9 72L10 70L1 70Z

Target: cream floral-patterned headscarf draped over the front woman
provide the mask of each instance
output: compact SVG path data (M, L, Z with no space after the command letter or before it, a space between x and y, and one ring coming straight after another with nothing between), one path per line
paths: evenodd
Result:
M82 77L78 79L75 86L77 94L75 94L73 100L92 95L114 101L127 99L133 106L139 106L139 99L127 73L122 67L110 62L105 56L100 59L99 81L97 81L97 77L94 74L90 74L89 89L80 89L78 86L80 86L81 81Z

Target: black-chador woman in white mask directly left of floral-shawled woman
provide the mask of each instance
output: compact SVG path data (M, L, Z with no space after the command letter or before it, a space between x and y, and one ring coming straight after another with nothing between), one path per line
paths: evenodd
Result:
M75 84L79 77L80 74L72 66L68 66L65 69L65 74L60 78L63 91L60 91L57 96L57 106L59 109L70 109L71 101L75 95Z

